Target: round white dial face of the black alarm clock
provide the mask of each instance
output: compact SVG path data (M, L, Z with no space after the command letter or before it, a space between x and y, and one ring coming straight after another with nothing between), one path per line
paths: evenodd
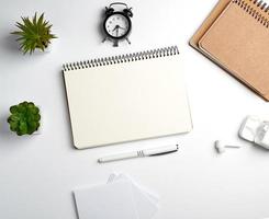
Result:
M104 31L111 38L122 39L131 32L131 20L121 12L115 12L104 21Z

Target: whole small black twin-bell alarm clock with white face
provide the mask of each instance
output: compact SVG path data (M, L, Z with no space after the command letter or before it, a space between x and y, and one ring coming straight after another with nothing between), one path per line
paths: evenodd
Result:
M115 10L115 5L123 5L124 9ZM114 2L109 7L105 7L104 15L103 31L105 38L103 42L110 39L114 42L114 46L119 46L120 41L127 41L128 44L131 44L128 41L128 35L132 31L132 8L128 8L127 4L122 2Z

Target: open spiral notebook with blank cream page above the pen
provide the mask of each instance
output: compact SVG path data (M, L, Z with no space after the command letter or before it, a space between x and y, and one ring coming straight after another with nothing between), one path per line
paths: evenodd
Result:
M192 128L178 47L64 65L78 149Z

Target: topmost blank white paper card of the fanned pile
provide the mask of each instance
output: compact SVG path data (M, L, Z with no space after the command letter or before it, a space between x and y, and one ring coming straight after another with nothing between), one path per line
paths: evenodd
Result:
M75 191L79 219L138 219L132 186L119 181Z

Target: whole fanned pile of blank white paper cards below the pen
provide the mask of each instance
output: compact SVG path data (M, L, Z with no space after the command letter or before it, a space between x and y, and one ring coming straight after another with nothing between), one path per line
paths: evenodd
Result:
M75 198L79 219L150 219L158 210L158 197L124 174L76 189Z

